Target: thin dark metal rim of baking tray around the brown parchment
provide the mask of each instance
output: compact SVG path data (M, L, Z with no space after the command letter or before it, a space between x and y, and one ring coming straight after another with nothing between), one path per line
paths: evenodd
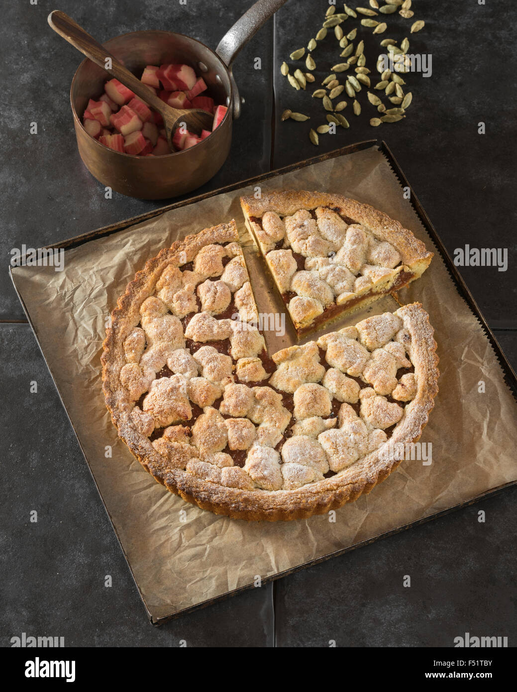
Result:
M433 239L433 242L435 243L435 246L437 248L438 253L442 256L442 259L444 260L447 271L451 277L451 280L453 281L453 284L455 285L455 287L457 289L457 292L462 296L462 298L464 298L464 300L465 300L466 304L468 304L471 312L473 313L475 318L480 323L480 327L481 327L482 331L484 332L484 334L489 339L489 343L491 344L491 346L492 346L492 348L496 354L496 358L498 359L500 366L502 368L502 373L503 373L505 382L509 386L514 398L517 399L517 376L516 376L516 373L514 372L513 368L511 367L505 354L502 352L502 349L500 348L495 336L493 335L493 332L489 328L489 325L487 325L486 320L484 320L484 317L480 313L480 309L478 308L478 305L475 303L475 300L473 299L471 292L469 291L468 287L464 283L460 273L457 271L457 268L453 264L451 257L449 257L449 255L446 251L446 248L444 247L444 244L442 243L441 239L439 238L439 235L437 234L435 228L433 227L433 224L431 224L430 219L428 219L426 212L424 211L421 204L419 203L419 200L417 199L415 192L412 190L410 183L406 179L406 176L403 174L401 168L399 167L399 165L398 165L396 159L394 158L392 152L390 151L388 145L386 145L386 143L384 143L384 142L379 144L377 142L377 140L368 140L365 142L356 143L354 145L349 145L347 147L342 147L341 149L336 149L333 152L329 152L329 153L323 154L321 156L315 156L314 158L309 158L306 161L302 161L300 163L296 163L296 164L289 165L287 167L280 168L280 169L275 170L271 173L262 174L260 176L256 176L253 179L248 179L246 181L239 181L238 183L235 183L233 185L228 185L225 188L219 188L218 190L213 190L212 192L208 192L206 194L199 195L198 197L193 197L190 199L185 199L183 201L172 203L172 204L164 206L162 208L147 212L143 215L139 215L139 216L133 217L131 219L125 219L124 221L120 221L116 224L111 224L110 226L105 226L103 228L93 230L91 233L86 233L86 234L83 234L83 235L80 235L77 237L73 237L71 239L68 239L68 240L62 242L62 243L56 243L56 244L53 244L51 246L46 246L46 247L47 248L64 248L64 249L76 248L76 247L81 246L82 244L85 244L85 243L93 240L93 239L106 237L106 236L112 235L114 233L118 233L122 230L128 229L131 226L135 226L136 224L141 224L143 221L147 221L149 219L152 219L153 217L157 217L158 215L161 215L164 212L179 209L179 208L184 207L184 206L192 205L192 203L196 203L198 201L209 199L210 197L215 197L216 195L219 195L219 194L225 194L228 192L233 192L235 190L239 190L240 188L246 187L248 185L255 185L258 183L264 183L264 181L270 181L270 180L274 179L276 176L280 176L280 175L283 175L283 174L286 174L289 172L293 172L293 171L302 169L304 167L314 165L316 163L328 161L332 158L336 158L339 156L347 156L348 154L352 154L354 152L360 152L364 149L369 149L370 147L379 147L383 156L386 157L386 159L387 159L390 167L392 168L394 174L397 176L399 183L401 183L401 185L403 185L404 187L407 186L410 189L410 193L411 193L410 194L410 202L412 204L412 207L414 208L415 212L417 213L417 216L419 217L421 224L423 224L424 228L426 228L431 239ZM40 341L39 341L39 335L37 333L37 329L33 323L33 318L31 318L31 315L30 315L30 310L26 307L26 304L24 304L24 299L22 298L21 292L19 291L19 286L17 286L17 277L15 276L15 274L16 274L16 271L10 270L10 275L12 277L13 284L15 284L15 290L17 291L19 299L21 300L21 304L23 305L24 310L26 311L28 322L30 323L30 326L32 327L33 331L35 332L35 336L37 338L39 347L40 347L40 349L42 349L42 345L40 344ZM42 354L43 354L43 356L47 362L47 365L48 365L48 360L45 356L43 349L42 349ZM49 367L49 370L50 369L51 368ZM58 393L60 393L59 388L58 388ZM62 399L61 393L60 393L60 398ZM63 401L63 399L62 399L62 401ZM63 404L64 404L64 407L66 410L66 405L65 405L64 401L63 401ZM67 414L69 414L68 410L67 410ZM71 421L71 423L72 423L72 421ZM73 425L73 423L72 423L72 425ZM74 426L73 426L73 428L75 430ZM77 435L76 430L75 430L75 432ZM78 441L79 441L79 438L78 438ZM82 448L82 446L81 446L81 448ZM83 453L84 453L84 450L83 450ZM86 454L85 454L85 457L86 457ZM87 462L88 462L88 459L87 459ZM89 464L89 466L90 466L90 464ZM92 475L93 475L93 473L92 473ZM93 475L93 478L94 478L94 481L96 482L94 475ZM426 522L430 519L437 518L439 516L443 516L446 513L449 513L451 511L455 511L456 509L459 509L460 507L465 507L469 504L472 504L473 502L476 502L480 498L484 498L484 497L487 497L487 495L492 495L494 493L497 493L498 491L500 491L500 490L502 490L508 486L514 485L516 483L517 483L517 480L512 480L510 482L500 484L496 487L487 489L487 491L484 491L482 493L478 493L464 502L458 502L457 504L453 504L453 506L451 506L451 507L447 507L446 509L442 509L441 511L436 511L434 513L429 514L428 516L424 516L423 518L419 518L418 520L408 522L406 524L400 525L400 526L395 527L394 529L391 529L388 531L383 531L382 533L374 535L374 536L368 538L367 540L358 541L357 543L354 543L353 545L347 545L346 547L343 547L343 548L340 548L337 550L333 550L332 552L328 552L325 555L318 556L317 558L306 561L305 563L302 563L300 565L296 565L296 567L292 567L291 569L282 570L282 571L276 572L275 574L265 576L262 579L262 583L273 581L273 579L279 579L282 576L285 576L287 574L291 574L292 572L296 572L302 568L308 567L309 565L313 565L313 564L322 562L322 561L324 561L324 560L326 560L332 556L344 554L345 552L348 552L348 551L355 549L357 547L361 547L363 545L368 545L368 544L374 542L374 540L377 540L378 538L384 538L386 536L396 534L399 531L403 531L403 530L408 529L414 525L419 525L419 524ZM98 486L97 482L96 482L96 485ZM101 498L102 498L102 493L101 493ZM103 502L104 502L104 500L103 500ZM106 504L105 504L105 507L106 507ZM106 507L106 509L107 509L107 513L111 519L109 509L107 507ZM116 531L116 534L118 536L118 531L116 529L116 526L115 526L112 519L111 519L111 521L112 521L112 524L114 525L114 530ZM118 539L120 541L119 536L118 536ZM219 601L219 600L224 599L225 597L228 597L230 595L237 594L246 588L251 588L251 585L246 585L246 586L243 586L240 588L230 589L227 592L225 592L224 594L218 594L215 597L208 598L205 601L203 601L202 603L197 603L195 605L192 605L192 607L190 607L190 608L182 608L181 610L177 610L176 612L171 612L170 614L165 614L161 617L156 617L155 615L153 615L152 611L149 610L149 608L147 607L147 603L145 601L144 595L143 595L142 591L140 590L140 586L138 585L138 581L134 575L134 570L131 566L131 561L129 560L129 558L127 556L127 552L125 550L123 543L121 541L120 541L120 543L121 543L121 547L123 549L123 552L125 554L125 557L127 559L129 569L131 570L131 574L133 574L133 576L135 578L137 588L140 592L140 596L143 599L149 620L153 624L161 624L161 623L167 621L168 619L171 619L172 617L177 617L181 613L184 614L186 612L191 612L192 610L196 610L197 608L201 608L201 607L206 606L206 605L213 603L215 601Z

